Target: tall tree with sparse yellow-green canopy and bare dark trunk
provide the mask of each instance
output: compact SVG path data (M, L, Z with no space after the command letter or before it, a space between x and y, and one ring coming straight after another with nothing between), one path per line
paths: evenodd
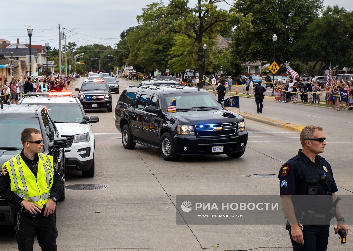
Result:
M164 34L174 33L192 39L199 76L203 76L203 39L216 38L221 29L231 26L231 14L217 8L218 2L225 1L197 0L195 7L190 7L188 0L170 0L167 6L152 3L143 8L143 14L137 18L149 26L159 23Z

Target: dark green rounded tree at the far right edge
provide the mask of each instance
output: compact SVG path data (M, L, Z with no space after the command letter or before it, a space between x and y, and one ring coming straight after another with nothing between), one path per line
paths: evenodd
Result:
M353 12L327 6L322 16L307 26L295 44L301 61L315 61L312 71L319 75L332 66L353 66Z

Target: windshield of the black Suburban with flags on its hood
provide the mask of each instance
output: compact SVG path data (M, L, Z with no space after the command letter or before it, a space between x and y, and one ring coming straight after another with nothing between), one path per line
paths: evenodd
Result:
M176 98L178 110L199 110L199 109L223 109L217 100L208 92L183 92L165 94L164 111L167 112L168 104Z

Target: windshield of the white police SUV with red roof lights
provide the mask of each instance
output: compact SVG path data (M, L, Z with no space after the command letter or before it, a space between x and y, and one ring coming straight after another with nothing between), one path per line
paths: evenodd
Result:
M55 123L81 123L84 121L83 116L85 114L82 113L78 103L47 103L41 105L47 107Z

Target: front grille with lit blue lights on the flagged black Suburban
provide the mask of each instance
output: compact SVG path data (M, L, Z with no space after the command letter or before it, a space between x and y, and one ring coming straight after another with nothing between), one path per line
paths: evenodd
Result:
M237 131L237 123L221 123L209 125L196 125L198 137L232 136Z

